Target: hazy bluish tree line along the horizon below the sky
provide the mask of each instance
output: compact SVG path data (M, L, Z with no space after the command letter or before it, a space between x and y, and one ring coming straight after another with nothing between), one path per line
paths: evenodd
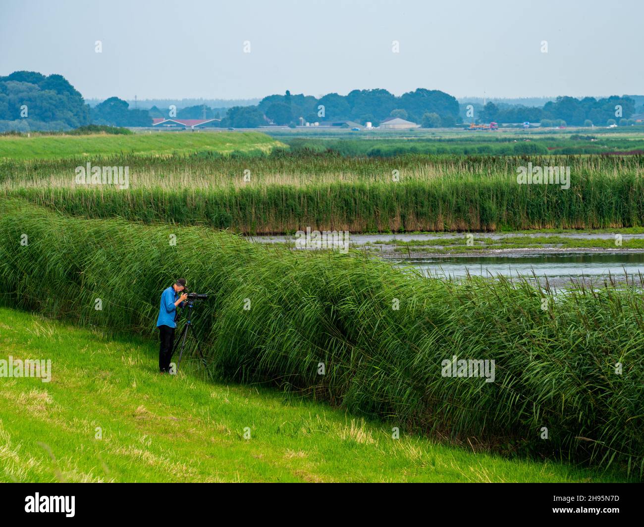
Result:
M470 108L471 106L471 108ZM176 110L176 111L173 111ZM268 95L252 106L210 108L204 104L187 108L149 110L129 107L127 101L110 97L90 108L81 93L62 75L14 72L0 77L0 131L68 130L99 126L151 126L153 118L214 119L211 126L256 128L267 124L298 126L306 122L349 121L378 126L389 117L400 117L424 128L451 127L468 122L541 122L546 126L604 126L630 124L636 113L630 97L604 99L557 97L543 108L522 105L460 104L440 90L408 91L396 96L387 90L352 90L347 95L327 93L313 97L303 93Z

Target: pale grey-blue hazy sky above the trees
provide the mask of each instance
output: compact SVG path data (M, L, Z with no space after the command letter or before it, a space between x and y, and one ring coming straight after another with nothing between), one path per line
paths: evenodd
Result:
M644 93L643 21L644 0L0 0L0 75L100 99L622 95Z

